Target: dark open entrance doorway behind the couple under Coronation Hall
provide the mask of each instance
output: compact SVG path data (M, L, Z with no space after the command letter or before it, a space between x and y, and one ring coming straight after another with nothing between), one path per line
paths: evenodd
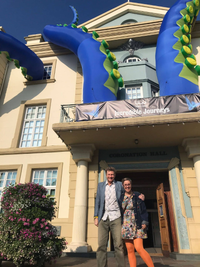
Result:
M158 218L156 189L163 183L165 192L170 194L168 171L117 172L116 180L128 177L132 180L133 190L145 195L145 204L149 214L148 238L144 239L144 248L150 253L161 253L161 236ZM167 207L167 213L168 213ZM171 212L171 210L170 210ZM111 240L111 250L114 250ZM173 251L173 249L172 249Z

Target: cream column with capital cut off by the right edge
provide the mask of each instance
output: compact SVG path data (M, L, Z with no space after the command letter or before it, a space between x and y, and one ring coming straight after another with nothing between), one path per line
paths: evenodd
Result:
M200 198L200 137L186 138L182 145L187 151L188 158L193 159Z

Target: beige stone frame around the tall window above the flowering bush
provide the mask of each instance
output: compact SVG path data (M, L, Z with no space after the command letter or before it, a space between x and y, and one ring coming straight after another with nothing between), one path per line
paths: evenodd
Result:
M43 130L43 136L42 136L42 143L41 146L37 147L20 147L20 140L22 135L22 129L24 124L24 116L25 111L28 106L41 106L46 105L46 116L45 116L45 122L44 122L44 130ZM14 138L11 143L11 148L18 148L18 149L38 149L40 147L44 147L47 145L47 130L48 130L48 124L49 124L49 116L50 116L50 106L51 106L51 99L41 99L41 100L28 100L28 101L22 101L19 109L19 115L18 120L16 124L15 134Z

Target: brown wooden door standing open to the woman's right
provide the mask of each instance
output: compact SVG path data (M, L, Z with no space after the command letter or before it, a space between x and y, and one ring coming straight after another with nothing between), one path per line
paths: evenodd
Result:
M169 257L171 248L170 248L169 228L168 228L163 183L157 187L156 196L157 196L158 219L160 225L162 253L165 257Z

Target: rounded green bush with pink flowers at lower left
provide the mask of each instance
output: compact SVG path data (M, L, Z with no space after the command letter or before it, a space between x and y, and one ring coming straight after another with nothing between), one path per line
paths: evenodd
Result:
M65 248L65 239L57 237L50 223L56 203L46 194L45 187L34 183L10 185L2 192L0 253L16 266L25 262L42 266L61 256Z

